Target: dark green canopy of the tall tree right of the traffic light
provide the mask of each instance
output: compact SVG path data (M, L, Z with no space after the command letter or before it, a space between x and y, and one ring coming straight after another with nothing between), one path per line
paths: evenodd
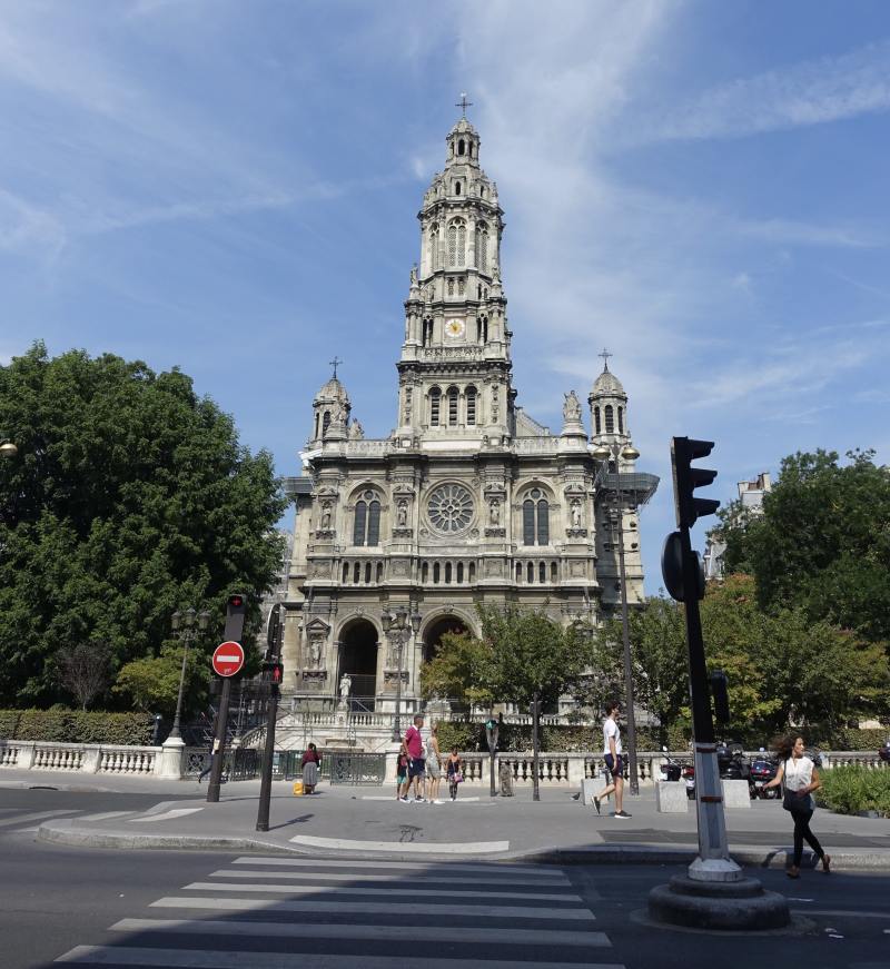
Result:
M756 580L768 611L802 607L814 621L890 641L890 469L874 452L793 454L761 514L730 505L715 534L728 572Z

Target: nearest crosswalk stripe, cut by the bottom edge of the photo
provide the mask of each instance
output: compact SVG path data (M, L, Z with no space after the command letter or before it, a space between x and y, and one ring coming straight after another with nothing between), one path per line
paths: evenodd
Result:
M427 956L399 953L394 956L340 956L313 953L313 969L516 969L513 959L481 962L475 955L467 959L431 959ZM224 952L205 949L135 949L125 946L77 946L57 962L95 962L99 966L164 966L168 969L294 969L290 952ZM578 969L577 962L534 962L536 969ZM597 969L624 969L622 963L601 963Z

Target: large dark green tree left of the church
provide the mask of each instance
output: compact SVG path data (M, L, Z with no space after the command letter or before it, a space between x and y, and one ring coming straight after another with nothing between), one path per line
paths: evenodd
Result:
M230 590L274 581L271 457L179 370L36 344L0 367L0 702L58 699L62 644L106 643L117 670L158 654L174 610L221 625Z

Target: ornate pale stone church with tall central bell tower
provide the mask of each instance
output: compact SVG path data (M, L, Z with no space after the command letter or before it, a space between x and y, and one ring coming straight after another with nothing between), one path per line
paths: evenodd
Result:
M364 436L335 366L313 401L303 475L289 479L285 694L301 709L348 699L386 712L397 692L416 709L422 664L444 633L478 632L476 603L599 622L620 603L617 527L629 602L642 597L645 490L621 483L645 479L651 493L655 479L634 474L627 396L606 355L590 435L574 390L556 434L517 406L503 217L463 117L418 214L395 429ZM603 445L610 463L593 455Z

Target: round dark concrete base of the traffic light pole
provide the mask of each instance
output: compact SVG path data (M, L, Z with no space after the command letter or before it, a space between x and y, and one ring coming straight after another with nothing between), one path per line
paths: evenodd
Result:
M671 926L718 931L783 929L791 921L785 897L764 891L755 878L714 882L686 874L652 889L649 916Z

